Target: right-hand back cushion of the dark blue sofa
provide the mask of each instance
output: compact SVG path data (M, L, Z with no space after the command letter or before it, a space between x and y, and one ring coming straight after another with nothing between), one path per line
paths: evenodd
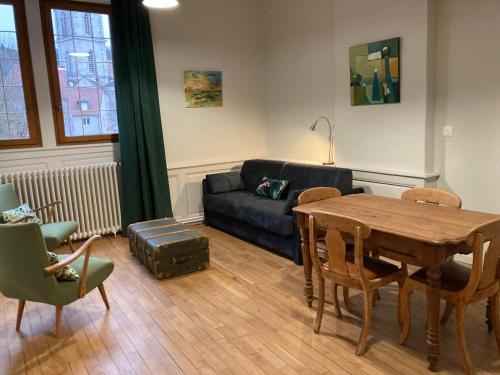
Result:
M352 192L352 170L321 165L286 163L280 179L290 181L290 190L332 186L342 195Z

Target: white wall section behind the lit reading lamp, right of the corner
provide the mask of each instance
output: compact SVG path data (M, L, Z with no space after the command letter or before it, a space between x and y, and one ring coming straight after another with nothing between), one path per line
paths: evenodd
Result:
M328 125L309 127L320 114L333 119L333 11L331 0L265 2L269 157L328 160Z

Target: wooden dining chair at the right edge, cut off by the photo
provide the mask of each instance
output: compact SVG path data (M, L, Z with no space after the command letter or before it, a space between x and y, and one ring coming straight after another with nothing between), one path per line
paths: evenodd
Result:
M468 245L472 246L472 268L456 262L445 262L441 267L441 298L446 300L446 311L441 318L445 324L451 315L452 307L456 308L455 329L458 336L460 354L467 374L472 374L472 364L467 352L464 336L464 318L468 305L472 302L488 299L487 317L491 329L495 332L498 350L500 351L500 326L498 323L498 299L500 296L498 264L500 246L497 241L500 235L500 220L478 227L471 231ZM489 242L483 260L484 245ZM426 292L426 270L418 270L406 278L401 290L401 336L403 344L410 329L410 299L415 291Z

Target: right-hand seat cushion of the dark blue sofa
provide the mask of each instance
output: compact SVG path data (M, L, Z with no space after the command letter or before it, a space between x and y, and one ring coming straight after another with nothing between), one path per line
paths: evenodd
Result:
M293 234L293 216L286 215L287 201L254 196L238 209L238 218L248 224L271 232L290 236Z

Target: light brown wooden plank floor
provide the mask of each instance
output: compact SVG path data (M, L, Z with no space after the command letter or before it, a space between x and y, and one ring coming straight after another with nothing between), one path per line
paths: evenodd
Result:
M210 236L210 268L162 282L130 255L126 239L101 240L95 255L116 266L105 284L111 310L93 291L65 307L60 338L53 336L53 307L28 302L16 332L17 301L0 295L0 374L427 372L423 296L412 299L410 337L400 346L397 287L382 289L368 350L357 357L360 295L353 293L353 313L342 320L328 304L321 334L315 335L315 305L307 308L302 298L300 267L212 228L197 229ZM466 337L477 373L500 373L482 304L467 312ZM440 373L463 373L453 318L442 328L441 342Z

